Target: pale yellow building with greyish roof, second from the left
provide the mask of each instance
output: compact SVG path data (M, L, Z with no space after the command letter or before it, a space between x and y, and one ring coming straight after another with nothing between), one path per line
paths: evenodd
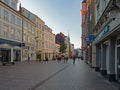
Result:
M23 15L23 61L35 60L35 29L36 29L36 15L22 7Z

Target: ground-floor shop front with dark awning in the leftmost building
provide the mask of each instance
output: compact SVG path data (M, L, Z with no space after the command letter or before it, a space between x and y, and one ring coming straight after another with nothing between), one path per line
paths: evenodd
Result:
M0 61L21 61L21 48L19 45L18 42L0 39Z

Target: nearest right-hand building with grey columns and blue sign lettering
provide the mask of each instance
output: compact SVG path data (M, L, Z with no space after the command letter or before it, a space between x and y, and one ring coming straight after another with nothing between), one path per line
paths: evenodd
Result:
M109 81L120 78L120 1L96 0L96 71Z

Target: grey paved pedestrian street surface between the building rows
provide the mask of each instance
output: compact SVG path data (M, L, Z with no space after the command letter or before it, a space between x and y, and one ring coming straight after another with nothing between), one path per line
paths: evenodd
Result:
M81 60L0 65L0 90L118 90Z

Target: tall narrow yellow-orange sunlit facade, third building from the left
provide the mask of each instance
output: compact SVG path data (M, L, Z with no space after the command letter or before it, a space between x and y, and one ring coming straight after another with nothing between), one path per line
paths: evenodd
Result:
M44 26L45 22L36 16L36 60L44 60ZM37 57L39 55L39 57Z

